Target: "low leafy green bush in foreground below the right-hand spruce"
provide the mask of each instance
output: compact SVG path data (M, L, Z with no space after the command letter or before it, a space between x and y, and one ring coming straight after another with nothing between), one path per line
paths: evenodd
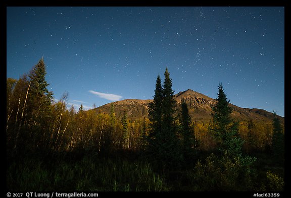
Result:
M256 173L251 167L254 160L211 154L205 163L199 160L188 175L196 191L249 191L255 188Z

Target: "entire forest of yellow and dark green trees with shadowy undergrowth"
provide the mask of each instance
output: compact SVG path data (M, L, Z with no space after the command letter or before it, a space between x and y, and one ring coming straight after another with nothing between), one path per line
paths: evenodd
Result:
M222 84L218 86L217 104L212 107L213 119L192 121L187 104L174 100L172 80L166 69L163 84L157 77L149 118L131 120L126 111L117 117L113 103L107 114L84 111L82 105L79 109L68 108L68 93L54 102L45 75L45 64L40 59L28 74L18 80L7 79L8 189L50 190L45 186L110 191L284 189L284 127L276 112L273 122L265 124L234 120ZM68 155L74 156L69 161L75 166L64 161ZM61 163L50 167L44 163L44 156ZM104 177L108 180L88 177L81 184L74 183L73 180L82 177L74 176L84 168L81 164L88 167L84 170L87 175L107 172ZM130 171L136 174L127 180L117 179L117 164L122 167L120 178L127 178L124 175L132 174ZM26 166L37 166L38 169L28 168L31 174L53 180L48 179L49 183L39 187L41 179L39 185L27 187L22 171ZM103 166L108 170L100 171ZM58 170L64 176L64 167L72 175L68 186L59 185L64 178L50 172ZM34 173L35 170L39 172ZM144 183L139 177L149 179ZM101 187L96 189L91 180ZM179 185L175 186L177 181ZM108 185L111 187L105 187Z

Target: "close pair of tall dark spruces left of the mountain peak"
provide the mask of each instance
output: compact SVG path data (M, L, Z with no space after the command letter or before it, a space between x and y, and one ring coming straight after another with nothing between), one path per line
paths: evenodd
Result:
M158 76L154 101L149 106L151 132L149 148L159 165L173 167L181 160L179 141L176 136L174 91L168 69L165 71L163 87Z

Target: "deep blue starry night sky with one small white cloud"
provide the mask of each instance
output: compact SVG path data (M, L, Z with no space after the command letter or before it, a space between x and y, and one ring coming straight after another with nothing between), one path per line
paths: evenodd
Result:
M54 98L84 109L172 89L284 116L284 7L7 7L7 78L43 56Z

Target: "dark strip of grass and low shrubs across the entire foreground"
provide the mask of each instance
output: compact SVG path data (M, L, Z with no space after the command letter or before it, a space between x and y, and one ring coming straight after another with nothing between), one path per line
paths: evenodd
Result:
M14 159L7 166L7 191L281 191L284 168L257 156L255 172L221 164L211 155L189 168L153 169L144 158L39 157ZM226 161L228 162L228 161ZM187 166L188 167L188 166ZM243 180L242 180L243 179ZM239 191L240 191L239 190Z

